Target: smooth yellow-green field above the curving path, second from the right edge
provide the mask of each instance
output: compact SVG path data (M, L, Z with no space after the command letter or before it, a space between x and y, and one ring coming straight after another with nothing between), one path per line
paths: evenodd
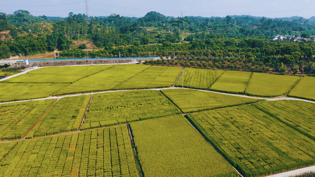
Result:
M278 97L286 95L300 80L298 76L254 73L245 93L258 97Z

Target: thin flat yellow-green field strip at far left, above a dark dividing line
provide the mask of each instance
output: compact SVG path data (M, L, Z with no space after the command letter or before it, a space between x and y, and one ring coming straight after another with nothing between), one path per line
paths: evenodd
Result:
M85 76L24 74L4 80L1 83L72 83L83 77Z

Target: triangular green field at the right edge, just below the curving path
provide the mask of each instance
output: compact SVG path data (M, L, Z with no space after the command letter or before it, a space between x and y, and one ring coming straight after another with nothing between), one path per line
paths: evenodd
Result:
M283 100L261 102L254 106L315 141L314 103Z

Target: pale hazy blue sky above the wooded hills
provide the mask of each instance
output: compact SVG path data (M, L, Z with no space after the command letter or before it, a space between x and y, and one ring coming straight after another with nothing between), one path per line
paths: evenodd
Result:
M265 17L301 16L306 19L315 16L315 0L88 0L91 16L143 17L156 11L166 16L253 15ZM22 9L34 16L67 17L85 11L85 0L0 0L0 12L12 14Z

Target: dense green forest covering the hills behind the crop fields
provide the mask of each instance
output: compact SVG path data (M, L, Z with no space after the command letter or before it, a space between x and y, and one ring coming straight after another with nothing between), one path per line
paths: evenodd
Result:
M89 23L88 23L89 22ZM265 17L166 17L149 12L135 19L116 14L87 19L85 14L69 13L67 18L49 20L28 11L0 13L0 58L33 55L55 50L59 58L83 58L85 44L92 41L92 58L154 56L175 60L149 60L150 64L181 65L218 69L250 69L306 65L314 70L315 46L312 41L273 41L273 35L309 38L315 23L301 18L282 21ZM9 33L9 34L7 34ZM2 35L2 34L0 34Z

